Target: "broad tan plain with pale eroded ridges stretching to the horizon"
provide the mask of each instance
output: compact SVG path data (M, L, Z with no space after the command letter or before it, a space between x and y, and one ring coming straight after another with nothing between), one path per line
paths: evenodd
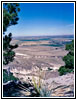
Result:
M39 38L33 39L35 38L27 41L23 38L12 41L12 44L18 43L19 47L14 50L16 54L14 61L8 65L11 72L23 81L28 78L32 80L32 77L38 80L39 73L43 80L58 77L58 69L65 64L62 58L68 53L65 50L65 44L62 45L62 43L71 39L48 37L41 38L40 41L38 41Z

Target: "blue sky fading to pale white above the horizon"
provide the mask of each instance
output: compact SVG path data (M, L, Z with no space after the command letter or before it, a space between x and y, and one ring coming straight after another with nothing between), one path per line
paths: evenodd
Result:
M6 33L13 36L74 34L74 3L20 3L18 24Z

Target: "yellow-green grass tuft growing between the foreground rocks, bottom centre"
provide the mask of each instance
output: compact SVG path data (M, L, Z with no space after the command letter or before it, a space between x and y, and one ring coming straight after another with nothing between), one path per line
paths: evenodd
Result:
M32 77L32 82L33 82L33 85L34 85L34 88L38 94L39 97L51 97L51 90L48 90L48 86L45 85L41 78L44 77L44 73L42 75L42 70L39 69L39 79L36 83L36 80L34 77Z

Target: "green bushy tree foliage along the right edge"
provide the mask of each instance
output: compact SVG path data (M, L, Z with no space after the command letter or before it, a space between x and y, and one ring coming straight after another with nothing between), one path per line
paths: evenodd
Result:
M66 45L66 50L68 50L69 53L63 57L65 66L61 66L59 68L58 71L59 71L60 75L74 71L74 40L72 40L72 42L70 44Z

